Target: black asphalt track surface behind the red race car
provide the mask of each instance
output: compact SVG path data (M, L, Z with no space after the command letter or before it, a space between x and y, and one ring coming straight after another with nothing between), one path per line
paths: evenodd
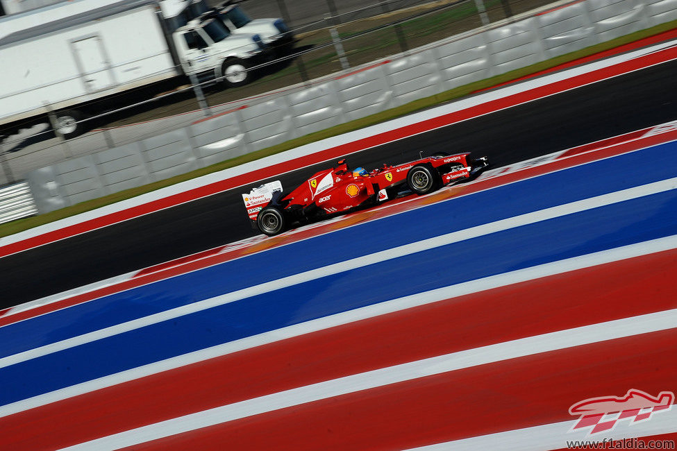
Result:
M472 151L501 167L662 124L677 119L676 72L677 62L667 62L378 146L350 156L348 162L370 169L418 158L420 151ZM295 187L331 164L300 169L279 180L285 188ZM646 169L651 170L651 162ZM240 196L249 189L233 189L3 257L0 308L256 235Z

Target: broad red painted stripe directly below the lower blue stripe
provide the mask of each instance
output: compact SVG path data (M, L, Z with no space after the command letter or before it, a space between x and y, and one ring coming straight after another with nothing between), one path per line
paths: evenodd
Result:
M3 445L62 448L346 375L662 312L677 307L676 269L669 250L311 332L0 418Z

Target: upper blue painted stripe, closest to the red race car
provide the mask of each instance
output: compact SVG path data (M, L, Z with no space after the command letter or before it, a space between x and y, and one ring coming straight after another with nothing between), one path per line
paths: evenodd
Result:
M0 327L0 357L288 275L677 175L677 142L362 223Z

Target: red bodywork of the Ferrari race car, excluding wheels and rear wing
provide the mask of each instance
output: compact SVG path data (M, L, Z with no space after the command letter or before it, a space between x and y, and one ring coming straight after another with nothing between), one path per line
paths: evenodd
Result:
M278 199L278 203L285 210L304 210L314 204L326 214L345 212L370 201L376 203L392 197L388 192L406 183L409 170L418 164L430 165L438 171L442 185L467 179L471 170L468 155L432 156L396 166L384 164L369 172L368 176L353 176L345 160L341 160L337 167L315 173L294 191ZM253 221L256 216L258 212L249 214Z

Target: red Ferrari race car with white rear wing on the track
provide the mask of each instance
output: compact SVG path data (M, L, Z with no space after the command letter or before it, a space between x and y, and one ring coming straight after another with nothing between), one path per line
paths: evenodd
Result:
M469 155L437 153L397 166L383 164L371 172L362 168L351 171L344 159L292 192L283 192L282 183L276 180L242 194L242 199L252 225L273 236L294 223L376 205L409 192L426 194L469 180L488 166L486 157L471 160Z

